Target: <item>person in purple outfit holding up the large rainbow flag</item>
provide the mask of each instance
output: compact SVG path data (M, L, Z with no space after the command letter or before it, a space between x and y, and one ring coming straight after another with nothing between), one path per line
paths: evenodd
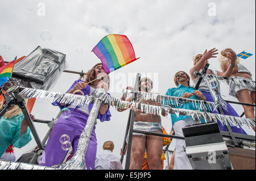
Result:
M97 87L102 87L105 89L105 91L108 91L109 85L102 80L96 80L92 83L86 83L97 78L97 75L100 73L105 73L104 69L102 68L102 64L94 65L93 68L89 70L86 74L85 82L81 81L80 79L75 81L67 92L70 94L75 94L77 90L81 90L84 95L90 95L92 94L94 89L97 89ZM89 112L90 110L92 110L93 107L93 103L90 103L87 107L72 106L72 104L65 105L58 102L53 102L52 104L54 106L59 106L61 110L67 107L71 111L71 114L67 118L60 115L51 131L47 146L44 149L43 155L39 161L39 165L49 167L62 163L68 153L68 150L61 147L63 146L63 144L61 144L60 142L60 137L64 134L67 134L69 137L69 142L71 142L73 154L76 153L80 135L85 128ZM100 121L103 122L109 121L110 117L111 114L108 104L101 104L97 119L100 119ZM94 163L96 159L97 138L95 128L96 126L94 125L92 135L90 136L88 148L85 153L85 164L88 170L94 169Z

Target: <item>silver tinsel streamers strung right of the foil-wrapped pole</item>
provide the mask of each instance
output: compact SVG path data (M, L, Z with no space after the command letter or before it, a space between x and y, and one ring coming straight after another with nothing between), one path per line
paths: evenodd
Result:
M131 91L128 90L127 93L129 93L129 92L131 92ZM143 94L143 92L141 92L141 93ZM209 112L201 112L201 111L199 111L199 109L202 110L204 108L204 106L205 106L204 102L194 100L194 99L191 99L189 101L191 101L191 103L197 105L197 109L198 109L197 111L184 110L184 109L180 109L180 108L171 108L170 106L166 106L166 105L154 106L154 105L150 105L150 104L143 104L143 103L133 102L133 101L128 102L126 100L115 99L112 96L106 94L106 92L102 92L101 90L98 90L98 89L94 92L94 94L96 94L97 98L101 99L103 102L104 102L104 100L108 100L109 105L114 106L116 109L117 108L119 108L119 109L129 109L129 110L134 110L134 111L141 110L141 112L150 113L150 114L154 114L154 115L160 115L162 112L166 113L165 114L166 116L168 116L168 113L173 113L176 116L187 115L187 116L191 116L193 118L196 118L199 121L202 118L204 118L205 121L214 120L214 121L217 122L217 120L220 120L225 125L227 123L230 123L232 125L236 125L237 127L239 127L239 125L241 125L241 124L242 125L247 125L248 127L251 127L251 125L255 126L255 121L253 119L247 119L247 118L235 117L235 116L227 116L227 115L220 115L220 114L209 113ZM155 95L159 96L158 94L155 94ZM216 95L216 94L214 94L214 95ZM108 96L109 96L109 98L108 98ZM150 94L144 94L143 96L144 96L145 99L152 100ZM177 98L177 97L174 97L174 98L176 98L176 99L170 99L171 102L175 105L179 104L179 98ZM215 98L219 99L217 97L217 95L216 95ZM159 101L159 97L158 98L153 98L153 100ZM200 104L197 104L197 103L200 103ZM213 102L209 102L209 103L211 103L210 105L212 105ZM224 102L218 102L218 104L220 104L221 106L225 106L224 103L225 103L225 101ZM215 107L215 104L214 104L214 107Z

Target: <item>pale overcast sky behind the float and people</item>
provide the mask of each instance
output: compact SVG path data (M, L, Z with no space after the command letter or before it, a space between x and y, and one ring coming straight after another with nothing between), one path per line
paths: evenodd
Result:
M241 64L255 80L255 1L254 0L159 0L159 1L10 1L0 2L0 55L5 61L27 56L38 45L67 55L68 70L88 71L100 60L91 52L108 34L126 35L139 60L110 73L110 93L120 98L121 90L134 86L129 75L150 76L154 91L161 95L175 87L174 74L189 73L192 56L205 49L232 48L237 54L245 50L254 55ZM220 52L220 51L219 51ZM210 69L220 70L217 58L209 60ZM52 91L65 92L79 75L62 73ZM135 77L134 77L135 78ZM132 80L132 81L131 81ZM224 99L237 101L221 84ZM239 105L232 105L238 114ZM110 108L112 119L96 125L98 153L105 141L115 144L119 155L123 144L129 111ZM36 100L32 113L37 119L51 120L58 107L50 100ZM170 116L162 117L162 125L170 133ZM43 140L46 124L35 123ZM36 145L32 140L22 149L15 148L16 158ZM124 165L124 164L123 164Z

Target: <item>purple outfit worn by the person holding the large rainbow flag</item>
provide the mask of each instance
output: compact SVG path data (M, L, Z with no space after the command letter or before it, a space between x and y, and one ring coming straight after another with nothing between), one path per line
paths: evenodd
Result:
M73 89L75 87L77 82L80 82L81 80L77 80L73 83L73 85L69 88L69 90ZM68 90L68 91L69 91ZM67 92L68 92L67 91ZM81 90L84 92L84 95L90 94L90 86L87 85L86 88ZM63 109L65 106L61 106L60 103L53 102L54 106L59 106L61 109ZM49 136L47 146L44 149L43 155L40 159L39 165L43 166L53 166L60 164L64 161L65 156L67 155L67 151L63 150L61 148L61 142L60 137L63 134L68 134L70 137L70 142L72 144L73 154L76 153L77 145L79 142L80 135L82 131L84 131L86 121L88 119L88 116L85 112L82 112L80 110L77 110L79 106L76 108L69 108L71 110L71 116L64 119L63 117L59 117L51 131L51 134ZM93 103L89 104L89 111L92 110ZM100 119L101 122L103 121L109 121L111 117L110 111L108 111L101 115L101 113L98 113L97 119ZM88 170L94 169L95 159L96 159L96 152L97 152L97 138L95 133L95 125L93 127L92 135L90 136L88 148L85 153L85 163Z

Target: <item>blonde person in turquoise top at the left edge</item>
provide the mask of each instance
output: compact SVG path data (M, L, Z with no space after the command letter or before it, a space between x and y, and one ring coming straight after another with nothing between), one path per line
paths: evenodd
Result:
M30 117L35 119L33 115ZM22 111L17 105L11 106L0 119L0 157L11 144L22 148L31 140L30 128Z

